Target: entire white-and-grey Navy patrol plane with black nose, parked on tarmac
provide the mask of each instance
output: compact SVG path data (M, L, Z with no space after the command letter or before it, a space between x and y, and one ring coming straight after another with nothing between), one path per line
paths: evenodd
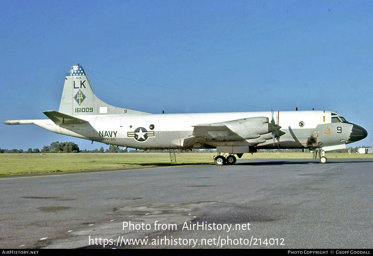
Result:
M216 165L258 149L345 149L367 131L330 111L150 114L111 106L93 93L82 66L66 74L60 108L49 119L8 120L35 124L48 131L135 149L216 148Z

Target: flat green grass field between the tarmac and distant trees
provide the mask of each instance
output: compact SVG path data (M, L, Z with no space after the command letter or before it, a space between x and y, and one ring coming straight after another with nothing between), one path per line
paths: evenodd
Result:
M178 165L213 163L214 153L178 153ZM327 153L332 158L373 158L372 154ZM312 159L312 153L244 154L247 159ZM170 165L168 153L0 154L0 175L42 174Z

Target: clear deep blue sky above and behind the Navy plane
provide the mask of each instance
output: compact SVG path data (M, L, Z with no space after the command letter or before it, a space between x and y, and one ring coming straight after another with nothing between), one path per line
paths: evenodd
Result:
M58 110L66 71L80 63L95 94L114 106L314 108L373 128L372 1L15 0L0 7L1 122ZM107 147L35 125L1 123L0 131L0 148L41 149L56 140Z

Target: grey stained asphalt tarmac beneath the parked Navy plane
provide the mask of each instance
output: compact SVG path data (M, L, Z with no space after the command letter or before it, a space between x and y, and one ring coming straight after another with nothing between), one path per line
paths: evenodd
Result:
M0 178L0 248L373 248L372 172L238 159Z

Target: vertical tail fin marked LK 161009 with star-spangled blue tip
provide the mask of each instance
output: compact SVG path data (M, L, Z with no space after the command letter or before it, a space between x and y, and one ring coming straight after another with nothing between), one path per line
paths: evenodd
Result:
M148 114L141 111L115 107L98 99L93 93L84 69L79 64L72 66L66 74L58 111L72 116Z

